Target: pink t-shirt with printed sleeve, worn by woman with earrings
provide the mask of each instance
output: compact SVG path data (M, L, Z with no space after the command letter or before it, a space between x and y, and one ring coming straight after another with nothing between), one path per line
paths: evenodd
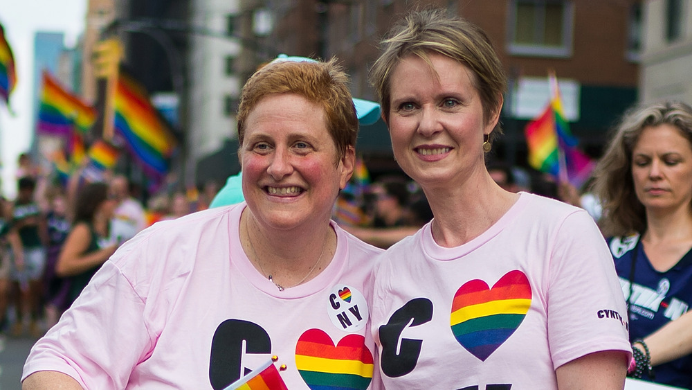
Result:
M567 204L521 193L455 248L430 224L392 246L374 274L372 331L389 389L557 389L555 369L630 352L605 240Z

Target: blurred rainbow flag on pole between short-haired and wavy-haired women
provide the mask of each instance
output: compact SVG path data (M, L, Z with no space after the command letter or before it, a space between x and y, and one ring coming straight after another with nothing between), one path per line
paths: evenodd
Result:
M565 120L554 73L550 74L549 83L552 90L550 102L524 130L529 148L529 165L580 188L596 163L577 148L578 142Z

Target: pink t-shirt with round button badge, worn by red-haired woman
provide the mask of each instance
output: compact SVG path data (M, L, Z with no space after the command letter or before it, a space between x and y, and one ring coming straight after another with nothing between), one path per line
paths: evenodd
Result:
M378 388L366 297L381 249L332 224L331 263L280 292L242 250L245 206L159 222L126 242L35 344L22 380L52 370L85 389L224 389L277 355L291 390Z

